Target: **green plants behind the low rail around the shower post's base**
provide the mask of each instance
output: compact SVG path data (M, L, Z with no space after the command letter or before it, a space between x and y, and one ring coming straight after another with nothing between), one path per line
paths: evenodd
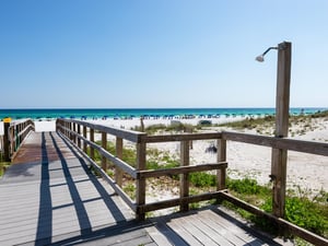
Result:
M272 192L270 186L260 186L256 180L230 179L227 178L229 190L237 198L254 204L266 212L272 212ZM300 192L307 195L300 188ZM328 194L320 190L314 198L307 196L296 196L296 194L288 194L285 202L285 219L303 229L314 232L321 236L328 236ZM253 221L260 229L271 233L274 231L274 225L268 223L267 220L258 218L241 208L237 208L229 202L225 206L238 212L242 216ZM311 211L311 212L309 212Z

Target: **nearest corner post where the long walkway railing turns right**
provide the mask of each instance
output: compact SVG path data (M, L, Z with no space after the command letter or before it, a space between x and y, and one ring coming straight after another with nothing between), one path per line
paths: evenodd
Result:
M137 169L143 171L145 169L145 143L139 142L137 143ZM145 179L139 178L137 179L137 191L136 191L136 202L137 206L143 206L145 203ZM140 209L137 209L137 220L144 220L144 212Z

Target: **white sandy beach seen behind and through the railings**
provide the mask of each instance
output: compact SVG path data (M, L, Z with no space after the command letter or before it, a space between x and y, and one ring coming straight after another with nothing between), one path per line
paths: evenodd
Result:
M221 124L226 121L239 120L242 117L235 118L212 118L212 124ZM199 118L179 119L180 122L197 125ZM105 125L117 128L131 129L140 126L140 119L112 119L106 120L87 120L98 125ZM144 119L144 126L151 125L169 125L171 119ZM35 121L36 131L54 131L55 120ZM211 130L233 130L227 128L212 128ZM273 131L273 129L267 129ZM243 132L256 133L254 130L243 130ZM290 127L293 139L302 139L308 141L328 141L328 120L324 118L312 119L311 128L302 126L302 124L292 125ZM301 133L302 132L302 133ZM3 133L3 124L0 122L0 134ZM213 163L215 155L206 153L206 149L213 143L213 141L194 141L194 148L190 150L191 164ZM159 144L150 144L149 148L157 148L160 150L168 151L171 154L178 155L179 143L166 142ZM232 178L250 177L265 185L269 184L271 172L271 149L266 147L258 147L253 144L245 144L239 142L227 142L227 174ZM289 151L288 154L288 188L293 190L302 190L308 194L317 194L321 189L328 190L328 159L327 156L319 156L313 154L304 154L294 151Z

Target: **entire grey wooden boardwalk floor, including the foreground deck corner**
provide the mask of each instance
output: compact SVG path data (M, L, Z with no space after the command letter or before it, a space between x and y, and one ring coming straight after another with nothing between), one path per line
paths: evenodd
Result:
M285 244L218 207L137 222L57 132L33 132L13 163L0 179L1 246Z

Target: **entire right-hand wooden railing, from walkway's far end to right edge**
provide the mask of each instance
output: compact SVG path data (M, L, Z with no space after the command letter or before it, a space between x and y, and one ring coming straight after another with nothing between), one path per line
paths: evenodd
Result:
M83 128L83 132L81 129ZM258 144L263 147L269 147L272 149L272 154L277 150L282 151L298 151L303 153L311 153L317 155L328 156L328 144L320 142L301 141L292 140L288 138L274 138L265 137L256 134L246 134L237 132L213 132L213 133L180 133L180 134L167 134L167 136L148 136L143 132L129 131L124 129L116 129L110 127L105 127L101 125L94 125L86 121L70 120L70 119L58 119L57 130L66 136L72 143L83 150L86 153L86 147L90 147L90 161L93 163L95 168L97 168L103 177L113 186L116 192L127 202L127 204L136 212L136 216L139 220L143 220L145 212L160 210L169 207L179 206L181 211L188 210L188 204L191 202L198 202L208 199L224 199L227 200L251 213L263 216L270 221L276 222L284 230L289 230L294 235L297 235L315 245L325 245L328 243L326 238L323 238L316 234L313 234L304 229L301 229L283 218L277 216L274 212L274 206L272 208L273 214L266 213L260 209L242 201L233 196L231 196L225 189L225 175L226 175L226 141L237 141L244 143ZM94 141L95 132L102 136L102 145L98 145ZM114 136L116 138L116 154L113 155L107 152L107 136ZM189 144L192 140L216 140L216 163L213 164L199 164L189 166ZM136 168L131 165L125 163L122 157L122 144L124 140L128 140L136 144L137 160ZM147 144L155 142L180 142L180 166L174 168L165 169L147 169ZM83 147L82 147L83 142ZM102 168L94 163L94 150L98 151L102 155ZM106 174L106 160L110 161L116 167L115 180L112 179ZM273 162L272 162L273 165ZM327 163L328 165L328 163ZM284 167L286 168L286 167ZM189 181L188 174L192 172L203 172L203 171L216 171L216 190L211 192L206 192L197 196L189 195ZM271 168L272 169L272 168ZM128 174L136 180L136 201L131 200L130 197L122 190L122 173ZM285 169L280 169L278 173L272 173L270 175L272 179L272 197L283 198L285 196ZM171 176L179 174L179 198L145 203L145 180L150 177L160 176ZM279 188L277 188L279 187ZM278 206L279 207L279 202ZM284 210L283 208L278 208L279 210ZM278 213L279 214L279 213Z

